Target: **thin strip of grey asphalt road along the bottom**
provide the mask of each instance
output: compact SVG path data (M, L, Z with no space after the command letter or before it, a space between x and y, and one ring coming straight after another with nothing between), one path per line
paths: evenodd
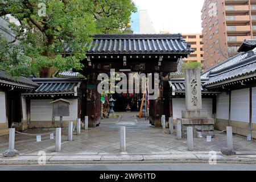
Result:
M0 166L0 171L256 171L255 164L65 164Z

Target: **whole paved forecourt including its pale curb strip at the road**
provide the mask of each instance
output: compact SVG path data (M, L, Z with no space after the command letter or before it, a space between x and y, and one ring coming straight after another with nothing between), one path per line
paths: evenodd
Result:
M126 126L125 153L119 152L119 127ZM30 134L48 133L28 131ZM148 121L132 116L117 119L103 119L100 127L81 130L77 136L74 131L73 141L68 142L67 128L63 131L61 152L55 152L55 140L49 134L42 135L42 142L36 142L35 136L17 134L15 149L18 158L3 158L2 153L8 148L8 137L0 137L0 163L12 161L36 162L38 152L45 151L48 162L82 162L82 161L143 161L147 160L209 160L209 151L217 152L217 159L231 162L255 162L256 142L234 135L234 150L237 155L226 157L221 155L221 148L226 147L226 135L216 134L212 142L206 138L194 139L194 151L187 151L187 139L177 140L176 135L155 129ZM246 156L245 156L246 155Z

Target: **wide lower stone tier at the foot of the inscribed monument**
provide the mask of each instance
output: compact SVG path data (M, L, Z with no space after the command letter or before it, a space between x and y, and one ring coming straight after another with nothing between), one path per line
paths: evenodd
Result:
M187 137L187 127L192 127L195 132L193 132L193 137L197 138L197 131L201 132L203 137L206 137L208 134L212 135L214 131L214 119L205 118L205 119L184 119L178 118L177 121L181 121L181 133L182 137ZM212 137L214 137L212 135Z

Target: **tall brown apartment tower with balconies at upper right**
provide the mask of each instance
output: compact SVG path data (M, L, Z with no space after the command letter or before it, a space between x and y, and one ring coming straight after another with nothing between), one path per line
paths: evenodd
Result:
M256 39L256 0L205 0L201 10L205 68L237 54L245 39Z

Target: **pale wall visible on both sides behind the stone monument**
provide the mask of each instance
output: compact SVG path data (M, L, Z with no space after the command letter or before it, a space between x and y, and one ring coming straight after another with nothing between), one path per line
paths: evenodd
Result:
M203 109L207 110L208 118L212 118L212 98L202 99ZM185 98L172 98L174 119L181 118L181 111L186 110Z

